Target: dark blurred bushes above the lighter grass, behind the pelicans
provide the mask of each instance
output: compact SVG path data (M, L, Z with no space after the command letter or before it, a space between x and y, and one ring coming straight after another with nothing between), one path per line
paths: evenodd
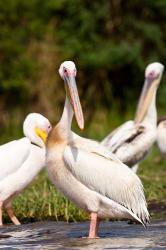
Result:
M165 0L0 0L0 10L3 137L7 127L21 127L28 112L58 120L64 88L57 69L63 60L77 64L89 123L98 108L114 103L118 112L128 110L145 66L165 62ZM162 113L166 86L160 89Z

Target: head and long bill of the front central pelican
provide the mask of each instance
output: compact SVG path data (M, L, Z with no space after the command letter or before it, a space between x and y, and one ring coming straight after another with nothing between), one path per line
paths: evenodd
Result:
M78 126L84 128L84 117L76 86L76 66L72 61L65 61L60 65L59 74L64 80L66 95L72 105Z

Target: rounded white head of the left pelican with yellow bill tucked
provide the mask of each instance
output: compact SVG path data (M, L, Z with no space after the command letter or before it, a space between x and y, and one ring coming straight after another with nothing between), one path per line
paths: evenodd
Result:
M29 138L32 143L40 147L44 147L51 129L52 126L49 120L38 113L30 113L26 116L23 123L24 135Z

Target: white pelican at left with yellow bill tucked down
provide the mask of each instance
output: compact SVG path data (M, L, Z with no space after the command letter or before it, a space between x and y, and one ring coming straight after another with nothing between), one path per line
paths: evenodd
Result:
M12 222L20 224L12 209L12 199L45 166L45 141L50 130L51 124L47 118L30 113L23 124L26 137L0 146L0 226L3 225L3 207Z

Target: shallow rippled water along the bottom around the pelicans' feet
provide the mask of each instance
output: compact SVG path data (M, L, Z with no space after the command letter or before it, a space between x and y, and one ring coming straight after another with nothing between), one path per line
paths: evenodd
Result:
M0 249L166 249L166 221L147 229L127 222L103 222L100 239L87 236L89 223L37 222L0 229Z

